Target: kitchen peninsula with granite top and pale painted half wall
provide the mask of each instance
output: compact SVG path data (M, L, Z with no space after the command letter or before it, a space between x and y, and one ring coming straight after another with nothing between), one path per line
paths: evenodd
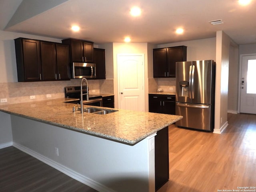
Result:
M182 116L118 109L82 118L67 100L0 106L13 146L100 192L155 191L154 137Z

